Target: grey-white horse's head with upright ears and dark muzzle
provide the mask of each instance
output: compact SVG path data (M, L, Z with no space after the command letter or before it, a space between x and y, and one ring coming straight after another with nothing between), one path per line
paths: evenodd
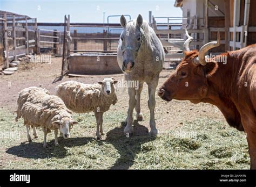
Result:
M122 70L130 72L136 64L136 57L142 45L144 31L142 30L143 18L138 16L137 21L126 22L125 17L120 17L120 23L124 30L120 35L122 40L123 67Z

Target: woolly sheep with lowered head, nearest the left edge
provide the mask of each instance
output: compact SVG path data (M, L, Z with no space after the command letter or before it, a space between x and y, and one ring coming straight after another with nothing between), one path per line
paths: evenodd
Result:
M23 117L28 141L31 141L29 134L30 127L33 128L33 135L37 138L36 127L41 127L44 132L43 147L47 146L46 136L51 130L55 132L55 146L58 146L58 130L63 138L70 137L70 128L77 121L72 119L71 111L67 109L62 99L50 95L49 91L37 87L29 87L19 92L17 99L18 109L16 111L18 121Z

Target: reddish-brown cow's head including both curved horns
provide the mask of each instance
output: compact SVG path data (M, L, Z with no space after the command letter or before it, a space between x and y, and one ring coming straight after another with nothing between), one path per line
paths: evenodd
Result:
M190 51L189 45L193 40L190 35L183 46L184 59L158 90L158 96L170 101L172 99L190 100L199 103L205 98L208 91L207 78L215 73L218 68L214 59L205 59L206 52L220 45L220 33L218 41L212 41L201 47L200 51Z

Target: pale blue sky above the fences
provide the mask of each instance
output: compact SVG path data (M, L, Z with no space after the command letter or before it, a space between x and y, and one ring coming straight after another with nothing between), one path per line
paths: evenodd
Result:
M132 19L140 13L144 19L149 20L149 10L154 16L181 17L180 8L173 6L174 0L0 0L0 10L28 15L37 18L38 22L64 21L64 15L70 15L72 23L105 23L110 15L131 15ZM166 22L166 20L158 21ZM110 23L119 23L118 18L110 18Z

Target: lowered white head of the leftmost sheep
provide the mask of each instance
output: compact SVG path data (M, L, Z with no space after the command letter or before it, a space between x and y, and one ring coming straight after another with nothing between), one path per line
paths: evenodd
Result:
M78 122L74 121L68 117L63 117L60 120L52 122L53 128L58 128L59 131L63 134L64 139L70 138L69 131L74 124L78 124Z

